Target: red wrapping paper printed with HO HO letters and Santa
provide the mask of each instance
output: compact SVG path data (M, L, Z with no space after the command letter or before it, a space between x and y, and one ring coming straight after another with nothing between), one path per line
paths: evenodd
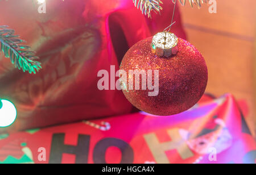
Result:
M255 163L230 94L173 116L135 113L1 135L0 163Z

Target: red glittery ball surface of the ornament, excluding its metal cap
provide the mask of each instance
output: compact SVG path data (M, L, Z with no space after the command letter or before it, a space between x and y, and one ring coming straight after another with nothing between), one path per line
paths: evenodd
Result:
M151 52L151 41L152 38L147 38L133 45L123 57L120 69L127 73L129 70L159 70L159 94L150 97L148 92L152 90L123 90L125 97L138 109L154 115L174 115L190 109L207 86L204 57L192 44L180 38L176 55L158 57ZM154 73L152 76L154 82ZM137 81L142 84L141 78Z

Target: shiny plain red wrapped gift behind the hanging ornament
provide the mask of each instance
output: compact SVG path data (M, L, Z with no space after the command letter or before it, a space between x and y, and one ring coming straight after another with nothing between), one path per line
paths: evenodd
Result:
M12 101L16 122L0 132L46 127L130 113L121 91L97 88L101 69L119 68L125 52L139 40L163 31L171 23L174 5L148 19L131 0L51 0L46 14L36 1L0 2L0 24L37 51L43 69L23 73L0 54L0 98ZM179 8L172 31L185 39Z

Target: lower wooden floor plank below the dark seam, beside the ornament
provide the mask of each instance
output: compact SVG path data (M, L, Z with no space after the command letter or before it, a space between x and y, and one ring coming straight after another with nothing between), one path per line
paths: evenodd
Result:
M254 130L254 42L186 28L188 40L204 55L209 71L207 92L232 93L249 105L247 123Z

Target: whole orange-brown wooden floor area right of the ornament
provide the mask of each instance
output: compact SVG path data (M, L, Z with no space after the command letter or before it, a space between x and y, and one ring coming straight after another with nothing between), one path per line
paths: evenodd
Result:
M199 10L180 6L188 40L203 53L209 69L207 92L232 93L249 107L247 123L255 131L255 0L217 0L217 13L209 5Z

